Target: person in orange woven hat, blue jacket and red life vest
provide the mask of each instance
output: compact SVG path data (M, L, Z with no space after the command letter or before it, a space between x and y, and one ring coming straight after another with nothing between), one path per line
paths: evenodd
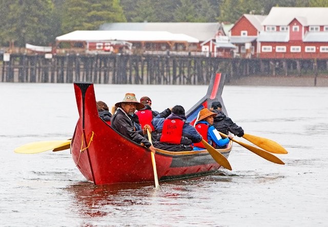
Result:
M201 134L203 139L215 147L215 145L219 147L226 146L229 144L230 139L232 139L231 135L228 135L228 138L222 139L218 131L213 126L214 116L216 116L215 112L211 112L208 108L203 108L199 111L198 120L196 120L195 128ZM194 143L194 150L204 150L206 149L202 143Z

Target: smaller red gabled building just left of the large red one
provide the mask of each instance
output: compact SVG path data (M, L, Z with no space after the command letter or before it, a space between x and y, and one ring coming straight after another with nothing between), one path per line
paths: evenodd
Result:
M229 34L231 43L237 47L234 51L235 57L257 56L257 37L262 31L261 22L265 17L267 16L244 14L236 21Z

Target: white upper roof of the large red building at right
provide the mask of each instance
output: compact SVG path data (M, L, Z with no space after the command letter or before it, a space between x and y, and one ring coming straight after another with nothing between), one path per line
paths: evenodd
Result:
M328 25L328 8L272 7L262 26L288 26L294 18L303 26Z

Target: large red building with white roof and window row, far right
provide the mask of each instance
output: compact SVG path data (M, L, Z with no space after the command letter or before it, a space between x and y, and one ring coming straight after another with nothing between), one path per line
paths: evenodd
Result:
M328 58L328 8L273 7L262 26L260 58Z

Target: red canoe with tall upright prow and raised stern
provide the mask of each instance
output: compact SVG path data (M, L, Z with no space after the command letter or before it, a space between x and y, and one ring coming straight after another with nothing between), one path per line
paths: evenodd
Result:
M225 75L211 77L207 95L187 111L192 122L200 109L220 101ZM120 135L98 116L92 83L74 83L79 119L71 142L73 160L81 173L95 185L153 181L150 151ZM225 111L226 112L226 111ZM228 157L227 149L218 149ZM214 173L220 167L207 150L165 151L155 154L159 181Z

